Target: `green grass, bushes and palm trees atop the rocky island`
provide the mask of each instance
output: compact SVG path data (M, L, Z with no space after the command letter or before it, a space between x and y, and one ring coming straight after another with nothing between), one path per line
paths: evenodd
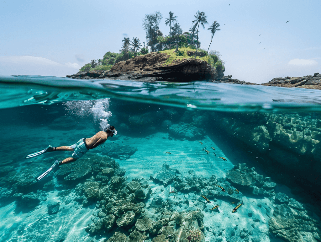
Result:
M204 12L198 10L194 17L195 20L192 21L192 27L187 32L183 32L177 22L177 16L174 16L174 13L170 11L169 18L165 18L165 25L169 25L170 31L169 35L164 37L159 29L160 21L163 18L162 14L159 11L146 14L142 25L146 33L146 44L143 42L143 47L137 37L133 37L132 40L129 37L124 37L119 53L108 51L102 59L92 59L91 62L80 68L80 71L109 70L120 61L126 61L149 53L148 47L151 52L169 55L165 65L172 63L175 59L197 58L206 61L215 69L217 67L224 69L224 61L221 59L220 52L216 50L209 51L215 32L220 31L218 28L220 24L214 21L210 28L207 29L211 32L211 43L206 51L200 48L201 42L198 40L198 33L200 25L205 29L204 24L208 23L207 16L205 16Z

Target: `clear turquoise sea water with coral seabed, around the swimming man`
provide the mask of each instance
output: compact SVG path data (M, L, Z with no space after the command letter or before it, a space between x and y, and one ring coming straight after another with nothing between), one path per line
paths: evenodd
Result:
M321 241L319 90L3 76L0 94L0 241ZM70 153L28 153L107 122L36 182Z

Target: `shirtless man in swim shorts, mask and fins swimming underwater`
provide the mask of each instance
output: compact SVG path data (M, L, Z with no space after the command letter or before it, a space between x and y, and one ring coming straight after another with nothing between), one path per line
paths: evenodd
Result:
M71 155L72 157L68 157L60 161L56 160L54 164L47 171L37 176L36 180L38 182L40 179L48 175L49 172L51 172L55 167L60 166L62 164L69 163L69 162L76 161L77 159L82 157L84 154L86 154L88 150L96 148L99 145L102 145L103 143L105 143L108 137L113 137L113 135L117 135L117 130L115 129L114 126L109 125L106 131L99 131L97 134L95 134L94 136L88 139L86 138L80 139L77 143L75 143L72 146L52 147L49 145L47 148L43 150L30 153L29 155L26 156L26 158L36 157L51 151L73 151L73 154Z

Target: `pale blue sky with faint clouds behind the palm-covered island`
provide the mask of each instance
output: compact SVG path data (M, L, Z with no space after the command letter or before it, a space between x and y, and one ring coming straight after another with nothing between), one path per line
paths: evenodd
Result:
M125 36L146 41L142 20L158 10L164 35L169 11L183 32L197 10L205 12L209 24L200 27L199 40L206 50L207 28L219 22L210 50L220 51L225 75L254 83L313 75L321 73L320 9L320 0L0 0L0 75L74 74L107 51L119 52Z

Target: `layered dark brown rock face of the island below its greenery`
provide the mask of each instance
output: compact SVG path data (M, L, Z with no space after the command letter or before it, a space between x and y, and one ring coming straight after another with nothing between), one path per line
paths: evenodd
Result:
M67 77L187 82L211 80L217 76L216 70L206 61L193 58L177 59L169 65L163 65L167 58L169 55L153 52L118 62L109 71L78 72L75 75L67 75Z

